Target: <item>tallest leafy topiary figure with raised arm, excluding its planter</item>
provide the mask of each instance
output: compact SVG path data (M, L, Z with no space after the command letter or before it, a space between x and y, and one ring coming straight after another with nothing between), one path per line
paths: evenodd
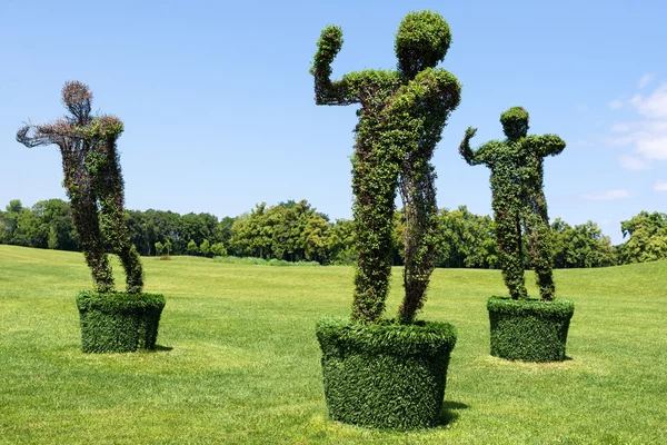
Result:
M396 190L406 207L406 298L399 320L411 323L434 269L437 212L430 164L441 130L460 100L457 79L435 66L451 36L442 17L410 12L396 36L397 71L364 70L331 81L342 46L339 27L325 28L310 72L318 105L359 103L352 157L354 217L358 243L351 318L379 322L389 289ZM400 187L399 187L400 179Z

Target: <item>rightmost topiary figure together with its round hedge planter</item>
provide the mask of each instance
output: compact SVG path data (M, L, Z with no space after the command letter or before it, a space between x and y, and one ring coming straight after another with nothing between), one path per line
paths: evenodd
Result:
M565 338L569 319L574 313L571 301L563 300L541 312L541 306L528 300L524 279L524 236L527 250L537 277L542 301L555 297L552 255L544 195L544 158L556 156L565 149L558 136L528 136L528 112L512 107L500 116L507 139L492 140L477 150L470 148L470 139L477 129L468 128L459 146L459 152L471 166L484 164L491 170L492 208L496 219L496 239L505 284L512 300L491 298L488 304L491 318L491 354L505 358L529 362L550 362L565 358ZM520 322L510 319L515 314ZM540 315L541 314L541 315ZM535 323L526 320L535 318ZM537 327L546 319L550 328ZM507 325L495 332L498 325ZM509 335L509 330L516 333ZM539 338L536 332L550 333L550 339ZM526 340L531 344L526 345Z

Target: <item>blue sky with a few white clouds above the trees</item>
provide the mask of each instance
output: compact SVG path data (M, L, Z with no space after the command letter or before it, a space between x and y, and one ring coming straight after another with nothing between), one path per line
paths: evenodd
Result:
M23 121L62 116L66 80L126 123L130 209L237 216L308 199L351 215L355 107L318 107L308 73L320 30L344 29L334 77L396 66L409 10L438 11L452 44L441 68L462 83L434 158L438 205L490 214L489 171L457 147L502 137L525 107L530 132L558 134L545 161L551 219L619 221L667 211L667 2L644 1L0 1L0 206L64 198L57 147L14 140Z

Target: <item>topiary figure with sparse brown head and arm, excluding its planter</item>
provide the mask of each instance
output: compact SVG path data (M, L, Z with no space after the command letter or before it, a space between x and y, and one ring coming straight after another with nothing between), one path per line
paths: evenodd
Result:
M94 290L115 290L106 239L126 270L127 293L140 294L141 260L125 222L123 182L116 148L123 125L116 116L91 115L91 101L92 91L86 83L66 82L62 102L70 115L46 125L24 126L17 140L27 147L53 144L60 148L63 184Z

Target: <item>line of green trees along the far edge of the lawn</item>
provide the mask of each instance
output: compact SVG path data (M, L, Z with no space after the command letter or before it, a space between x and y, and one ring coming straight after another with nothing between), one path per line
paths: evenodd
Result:
M495 222L466 206L440 209L437 267L498 268ZM307 200L273 206L258 204L237 217L211 214L179 215L163 210L127 210L132 243L143 256L196 255L352 264L356 259L354 221L317 211ZM560 218L551 225L556 268L605 267L667 258L667 214L641 211L621 221L625 243L614 246L594 221L570 226ZM405 218L394 220L394 264L402 261ZM48 199L23 207L13 199L0 210L0 244L79 250L69 202ZM528 255L524 255L528 265Z

